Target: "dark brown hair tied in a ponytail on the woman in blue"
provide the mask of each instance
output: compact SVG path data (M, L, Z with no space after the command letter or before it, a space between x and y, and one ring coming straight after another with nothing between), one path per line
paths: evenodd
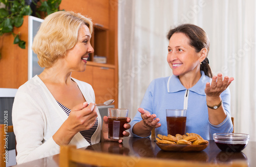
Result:
M209 60L207 58L210 50L210 41L206 32L196 25L183 24L169 30L167 34L168 40L170 39L170 37L172 37L174 33L178 32L184 33L190 39L189 45L194 47L197 53L200 52L203 48L207 49L207 54L205 59L202 61L202 64L200 65L200 70L203 71L205 75L212 78Z

